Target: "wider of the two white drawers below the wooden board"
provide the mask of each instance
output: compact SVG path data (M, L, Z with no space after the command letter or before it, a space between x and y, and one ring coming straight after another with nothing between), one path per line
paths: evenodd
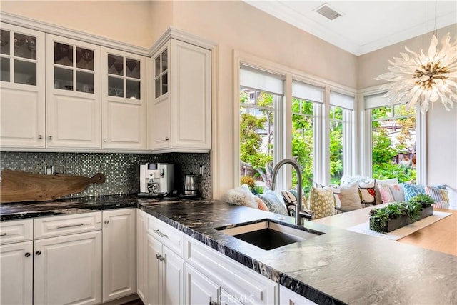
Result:
M101 211L34 220L34 239L101 230Z

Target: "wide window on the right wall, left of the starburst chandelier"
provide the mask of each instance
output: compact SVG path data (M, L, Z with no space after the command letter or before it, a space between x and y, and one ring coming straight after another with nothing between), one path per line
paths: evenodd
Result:
M372 176L398 178L399 182L416 180L416 108L385 104L381 95L366 97Z

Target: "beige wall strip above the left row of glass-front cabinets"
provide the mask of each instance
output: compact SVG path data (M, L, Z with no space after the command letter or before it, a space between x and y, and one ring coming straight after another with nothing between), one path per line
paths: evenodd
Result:
M156 40L151 1L5 1L1 11L146 48Z

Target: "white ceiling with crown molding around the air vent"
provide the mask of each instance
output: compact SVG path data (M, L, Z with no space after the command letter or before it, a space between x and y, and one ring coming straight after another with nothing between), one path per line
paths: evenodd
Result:
M435 29L435 1L258 1L246 3L355 55L381 49ZM342 16L314 11L328 4ZM457 23L457 1L438 0L436 29Z

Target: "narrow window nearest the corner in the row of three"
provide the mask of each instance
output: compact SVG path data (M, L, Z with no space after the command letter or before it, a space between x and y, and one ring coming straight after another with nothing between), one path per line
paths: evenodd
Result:
M352 174L353 96L330 91L330 182L339 184L343 174Z

